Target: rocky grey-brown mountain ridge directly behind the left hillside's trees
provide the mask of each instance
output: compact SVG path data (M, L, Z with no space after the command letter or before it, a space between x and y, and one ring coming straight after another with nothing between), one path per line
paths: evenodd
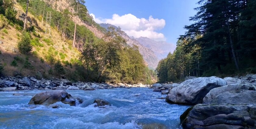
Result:
M101 23L101 27L108 29L108 27L114 27L117 29L115 25L108 24L108 23ZM148 64L148 67L155 69L158 64L158 57L155 55L155 53L148 47L142 45L140 42L138 42L133 37L129 37L126 33L122 34L122 37L126 39L126 43L129 46L136 45L139 48L140 54L143 56L143 59Z

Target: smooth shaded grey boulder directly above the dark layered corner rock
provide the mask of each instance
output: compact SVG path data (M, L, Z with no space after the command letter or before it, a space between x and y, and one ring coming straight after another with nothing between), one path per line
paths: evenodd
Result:
M232 90L220 93L204 104L246 104L256 103L256 91L254 90Z

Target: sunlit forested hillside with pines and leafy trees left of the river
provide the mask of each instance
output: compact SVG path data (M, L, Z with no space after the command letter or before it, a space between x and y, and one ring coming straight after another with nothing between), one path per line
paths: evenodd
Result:
M22 53L22 57L15 56L10 64L4 59L1 60L2 74L5 74L3 70L8 71L9 67L13 69L18 67L20 71L29 71L32 68L31 73L34 71L36 73L37 66L33 66L29 61L30 57L36 56L42 64L50 65L49 68L41 71L46 78L66 76L73 81L153 83L152 78L156 76L154 70L147 67L137 46L126 45L126 40L120 36L122 33L120 28L110 27L106 30L94 22L83 0L69 1L71 3L69 8L73 8L73 12L68 8L59 7L58 9L57 2L17 0L19 5L16 5L12 0L0 0L1 29L6 31L3 31L3 34L8 35L8 26L14 27L17 37L12 39L17 38L16 43ZM18 19L14 5L21 5L26 12L25 19L27 12L33 15L33 17L30 16L33 24L28 25L26 20L24 24ZM49 27L51 31L58 32L54 35L59 35L63 44L60 44L57 39L52 39L51 36L47 38L46 35L49 32L42 28L47 24L45 23L46 13L49 12L52 14ZM94 32L87 28L88 26L78 22L96 28L103 33L103 36L95 36ZM2 39L4 38L6 37L2 36ZM56 49L56 45L62 46L62 49ZM69 55L70 53L76 53L79 56ZM2 55L4 55L3 52Z

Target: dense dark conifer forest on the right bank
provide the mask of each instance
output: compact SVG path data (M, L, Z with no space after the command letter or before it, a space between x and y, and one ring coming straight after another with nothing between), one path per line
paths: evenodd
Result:
M200 0L173 54L157 67L160 82L185 76L256 73L256 1Z

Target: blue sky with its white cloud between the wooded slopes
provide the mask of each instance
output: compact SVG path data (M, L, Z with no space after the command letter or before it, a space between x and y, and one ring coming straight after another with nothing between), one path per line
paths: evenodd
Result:
M85 5L96 22L120 26L129 36L147 36L176 44L179 35L186 31L183 29L184 25L192 23L189 17L195 15L197 2L198 0L87 0Z

